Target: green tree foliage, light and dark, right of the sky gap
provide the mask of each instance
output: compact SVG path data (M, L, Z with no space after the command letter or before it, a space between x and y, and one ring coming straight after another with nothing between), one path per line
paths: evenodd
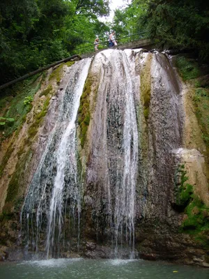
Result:
M160 46L192 50L209 61L209 2L132 0L116 10L113 28L120 36L146 31Z

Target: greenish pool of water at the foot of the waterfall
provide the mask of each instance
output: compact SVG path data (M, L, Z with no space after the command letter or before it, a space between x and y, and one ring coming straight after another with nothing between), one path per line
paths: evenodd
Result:
M173 272L174 271L174 272ZM1 279L208 279L209 269L121 259L49 259L0 264Z

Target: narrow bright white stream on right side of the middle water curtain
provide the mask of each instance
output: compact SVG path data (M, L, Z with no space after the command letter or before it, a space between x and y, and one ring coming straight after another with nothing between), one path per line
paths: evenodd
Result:
M127 52L127 54L129 54ZM125 229L125 239L134 252L134 217L135 217L135 190L137 181L138 165L138 130L137 116L134 107L134 80L132 80L130 61L123 53L125 66L125 87L123 96L125 103L124 126L123 126L123 181L122 185L116 184L116 204L114 210L116 253L118 238L123 243L123 231ZM122 80L118 80L120 84ZM124 82L124 81L123 81ZM133 257L134 255L132 255Z

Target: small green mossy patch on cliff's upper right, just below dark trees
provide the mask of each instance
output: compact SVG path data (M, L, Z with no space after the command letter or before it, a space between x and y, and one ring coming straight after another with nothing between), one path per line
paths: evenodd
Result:
M186 58L185 56L179 55L176 57L176 67L178 68L178 72L184 81L192 80L201 75L198 63Z

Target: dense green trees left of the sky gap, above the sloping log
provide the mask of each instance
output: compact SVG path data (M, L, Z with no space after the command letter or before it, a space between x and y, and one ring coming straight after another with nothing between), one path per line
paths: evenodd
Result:
M1 0L0 84L93 43L108 14L107 0Z

